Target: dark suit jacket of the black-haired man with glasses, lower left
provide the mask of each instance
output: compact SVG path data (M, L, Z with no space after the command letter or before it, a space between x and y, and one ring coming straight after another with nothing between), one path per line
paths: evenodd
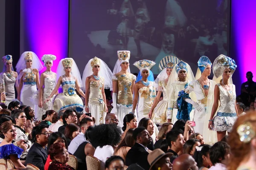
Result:
M29 149L25 165L33 164L37 166L40 170L44 170L44 164L47 160L47 156L47 148L44 148L39 143L34 142L32 147L30 147Z

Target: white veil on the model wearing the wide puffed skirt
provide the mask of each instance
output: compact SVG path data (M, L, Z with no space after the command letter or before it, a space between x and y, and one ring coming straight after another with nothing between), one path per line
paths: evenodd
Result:
M71 74L72 74L72 76L76 77L76 79L78 81L78 84L80 85L80 87L82 87L81 74L80 74L79 69L78 69L78 67L76 65L76 62L74 61L73 58L64 58L64 59L72 59L73 60L73 64L72 64L72 67L71 67L72 68ZM65 74L64 67L62 65L62 61L64 59L61 59L61 61L58 63L57 72L56 72L56 74L57 74L57 76L56 76L57 81L58 81L59 77L61 77L61 76L63 76ZM60 88L62 88L62 86L60 86Z

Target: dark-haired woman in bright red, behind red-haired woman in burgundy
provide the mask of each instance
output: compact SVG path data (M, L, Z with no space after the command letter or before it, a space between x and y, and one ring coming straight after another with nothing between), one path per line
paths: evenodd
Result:
M49 148L51 147L51 145L57 142L64 143L65 147L66 148L68 147L67 139L65 138L64 134L60 132L54 132L49 136L49 139L48 139L48 145L47 145L48 154L49 154ZM44 170L48 170L50 162L52 162L52 159L50 159L50 156L48 155L46 163L44 164Z

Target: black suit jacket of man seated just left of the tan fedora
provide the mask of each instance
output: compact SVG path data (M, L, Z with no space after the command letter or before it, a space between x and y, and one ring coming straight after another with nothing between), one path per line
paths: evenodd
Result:
M135 143L133 147L128 151L125 159L125 164L127 166L137 163L144 170L149 170L150 165L148 163L148 152L143 146Z

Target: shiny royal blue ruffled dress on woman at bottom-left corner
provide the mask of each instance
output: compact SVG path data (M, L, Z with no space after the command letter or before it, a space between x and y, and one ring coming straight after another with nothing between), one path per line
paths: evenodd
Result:
M9 159L9 155L17 155L20 159L22 153L23 149L14 144L6 144L0 147L0 159Z

